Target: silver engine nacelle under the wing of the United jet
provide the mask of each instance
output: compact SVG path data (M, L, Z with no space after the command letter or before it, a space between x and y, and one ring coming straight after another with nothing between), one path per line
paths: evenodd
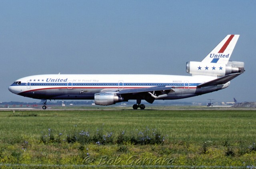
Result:
M95 93L94 102L96 105L112 105L123 101L123 98L114 93Z

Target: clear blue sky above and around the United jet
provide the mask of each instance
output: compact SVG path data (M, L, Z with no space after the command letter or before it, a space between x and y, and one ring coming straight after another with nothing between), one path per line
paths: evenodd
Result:
M36 74L187 75L227 34L246 72L183 101L256 101L255 0L1 0L0 101L40 101L8 86Z

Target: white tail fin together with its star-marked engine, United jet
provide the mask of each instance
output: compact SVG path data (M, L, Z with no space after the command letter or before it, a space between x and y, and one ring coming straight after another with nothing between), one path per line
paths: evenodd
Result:
M226 36L202 62L187 62L186 72L204 76L227 76L244 73L244 62L229 61L239 35ZM231 77L231 76L230 76ZM236 76L232 76L235 78Z

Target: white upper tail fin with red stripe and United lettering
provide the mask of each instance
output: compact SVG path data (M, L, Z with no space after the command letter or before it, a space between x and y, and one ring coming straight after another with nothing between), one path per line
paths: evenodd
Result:
M227 35L202 62L227 64L240 35Z

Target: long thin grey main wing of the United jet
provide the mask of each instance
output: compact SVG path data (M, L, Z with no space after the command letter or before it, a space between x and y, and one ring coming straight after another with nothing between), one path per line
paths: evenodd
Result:
M146 87L146 88L137 88L137 89L123 89L118 94L141 93L141 92L162 91L162 90L172 90L172 87L157 86L157 87Z

